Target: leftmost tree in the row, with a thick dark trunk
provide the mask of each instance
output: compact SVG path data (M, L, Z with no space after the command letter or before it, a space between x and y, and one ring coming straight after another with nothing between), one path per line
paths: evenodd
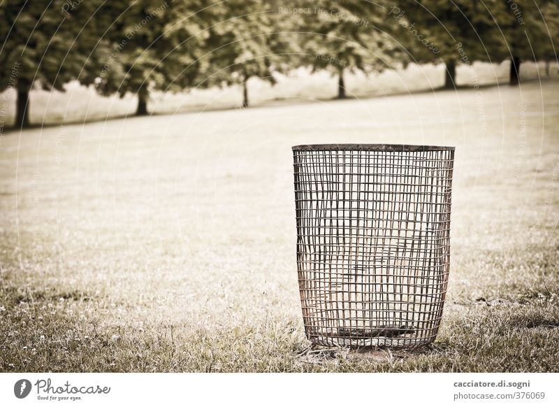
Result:
M0 92L13 86L17 93L15 125L29 126L29 92L35 83L44 90L64 91L64 84L78 79L85 85L91 76L88 55L97 43L94 15L100 1L84 1L73 8L53 0L8 0L0 3Z

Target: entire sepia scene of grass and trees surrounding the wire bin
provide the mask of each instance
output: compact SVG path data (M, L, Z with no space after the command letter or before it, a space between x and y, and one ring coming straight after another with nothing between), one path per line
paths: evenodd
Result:
M0 371L557 371L556 1L3 1ZM456 146L419 350L311 349L291 146Z

